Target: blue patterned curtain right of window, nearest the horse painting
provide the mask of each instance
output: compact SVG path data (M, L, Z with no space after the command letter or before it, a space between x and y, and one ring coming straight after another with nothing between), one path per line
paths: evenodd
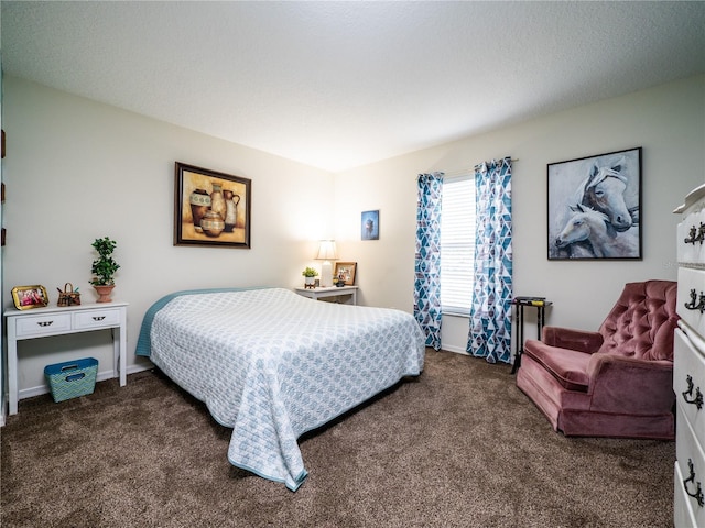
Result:
M476 235L467 352L511 362L511 158L475 167Z

